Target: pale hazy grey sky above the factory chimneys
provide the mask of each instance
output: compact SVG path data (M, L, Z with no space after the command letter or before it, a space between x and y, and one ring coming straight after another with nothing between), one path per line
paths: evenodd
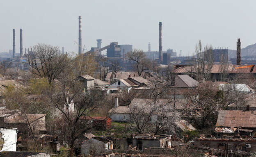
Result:
M162 22L163 51L182 50L184 56L203 45L236 49L256 43L256 0L0 0L0 52L12 49L12 29L19 52L37 43L78 53L78 16L82 16L82 47L110 42L158 51Z

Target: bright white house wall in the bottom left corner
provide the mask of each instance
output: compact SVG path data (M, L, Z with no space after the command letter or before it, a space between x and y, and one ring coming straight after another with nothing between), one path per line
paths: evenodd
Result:
M0 127L0 152L16 151L17 128Z

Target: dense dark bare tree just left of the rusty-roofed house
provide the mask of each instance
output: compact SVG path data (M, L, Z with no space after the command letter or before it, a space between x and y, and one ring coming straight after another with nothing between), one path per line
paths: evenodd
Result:
M217 103L216 92L217 89L211 82L204 82L199 84L192 93L187 94L183 117L203 132L211 130L217 120L219 104Z

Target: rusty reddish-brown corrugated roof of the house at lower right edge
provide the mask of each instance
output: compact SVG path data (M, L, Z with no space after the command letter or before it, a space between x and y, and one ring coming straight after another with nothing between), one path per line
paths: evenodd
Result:
M216 127L256 127L256 111L220 110Z

